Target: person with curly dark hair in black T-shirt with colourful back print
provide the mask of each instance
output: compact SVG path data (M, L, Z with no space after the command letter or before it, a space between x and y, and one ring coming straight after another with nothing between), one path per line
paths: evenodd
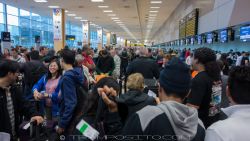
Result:
M215 52L205 47L196 49L192 68L198 74L192 80L187 105L198 109L199 118L208 127L218 120L221 103L221 71Z

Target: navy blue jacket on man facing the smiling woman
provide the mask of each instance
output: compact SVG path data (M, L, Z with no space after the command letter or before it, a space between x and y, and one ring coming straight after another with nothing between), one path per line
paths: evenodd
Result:
M72 119L77 104L77 85L83 85L83 75L80 68L68 70L60 79L61 100L59 102L59 127L66 129Z

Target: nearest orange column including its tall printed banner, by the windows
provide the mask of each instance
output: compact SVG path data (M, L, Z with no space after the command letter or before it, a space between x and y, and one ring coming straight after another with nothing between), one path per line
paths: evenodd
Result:
M65 12L53 9L54 49L56 52L65 47Z

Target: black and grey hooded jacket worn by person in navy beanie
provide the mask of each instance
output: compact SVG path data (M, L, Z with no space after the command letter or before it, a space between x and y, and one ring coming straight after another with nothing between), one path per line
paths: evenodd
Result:
M112 113L109 118L114 119L115 115ZM117 121L110 120L108 124L110 127L117 125L116 128L121 129ZM112 129L109 131L112 134ZM205 137L205 129L197 110L174 101L164 101L136 112L129 117L120 133L125 140L144 141L203 141Z

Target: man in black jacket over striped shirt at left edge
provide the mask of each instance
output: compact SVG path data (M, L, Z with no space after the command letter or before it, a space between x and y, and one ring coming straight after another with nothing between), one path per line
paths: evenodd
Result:
M0 132L11 135L11 140L18 137L18 126L21 116L36 120L41 123L43 118L39 116L35 108L22 95L22 87L15 86L19 64L10 60L0 61Z

